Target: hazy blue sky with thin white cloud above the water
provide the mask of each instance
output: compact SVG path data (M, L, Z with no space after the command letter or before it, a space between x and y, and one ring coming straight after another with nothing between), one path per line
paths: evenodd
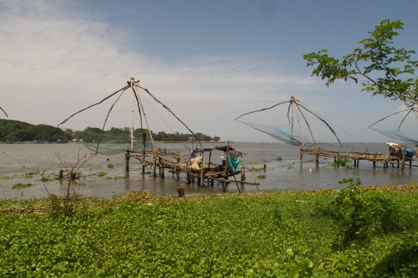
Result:
M382 19L405 24L396 47L418 50L416 10L415 0L0 0L0 106L8 113L0 118L57 126L133 77L194 133L221 140L274 142L235 118L293 96L343 141L386 142L368 126L402 103L361 84L327 87L302 56L350 54ZM102 128L116 97L62 126ZM153 131L189 133L154 102L144 100ZM131 109L127 91L105 129L130 126ZM240 120L286 124L287 106ZM320 125L311 127L322 134Z

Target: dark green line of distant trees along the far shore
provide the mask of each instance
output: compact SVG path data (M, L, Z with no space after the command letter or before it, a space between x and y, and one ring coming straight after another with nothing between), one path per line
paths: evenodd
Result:
M102 129L91 126L88 126L84 131L72 131L72 129L63 131L47 124L34 125L16 120L0 119L0 142L68 142L73 139L95 142L95 140L98 140L98 134L101 132ZM144 132L148 136L148 130L135 129L134 136L139 138ZM162 142L195 140L192 134L187 133L166 133L164 131L154 133L151 131L151 134L154 140ZM220 140L219 136L212 138L202 133L196 133L196 137L200 141ZM130 128L127 126L123 128L111 127L111 129L103 131L103 138L130 138Z

